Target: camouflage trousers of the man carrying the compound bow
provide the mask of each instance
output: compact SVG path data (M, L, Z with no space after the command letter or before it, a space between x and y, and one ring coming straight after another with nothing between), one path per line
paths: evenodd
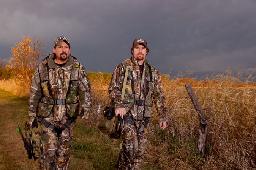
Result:
M49 122L55 125L55 127L60 128L66 120ZM61 134L57 135L54 130L46 128L41 124L45 158L39 161L40 170L68 169L71 144L73 142L73 127L74 123L72 123L69 128L62 131Z

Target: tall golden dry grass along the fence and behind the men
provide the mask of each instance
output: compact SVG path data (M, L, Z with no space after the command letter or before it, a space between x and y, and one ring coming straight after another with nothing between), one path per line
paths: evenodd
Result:
M255 71L253 69L252 71ZM230 70L201 80L188 78L191 72L162 77L168 126L158 128L154 113L148 125L146 169L254 169L256 168L256 87L253 74ZM88 73L92 85L92 111L87 120L95 127L102 108L109 105L107 87L111 74ZM186 92L190 82L208 119L204 154L198 153L199 117ZM0 81L0 88L15 91L15 82ZM117 141L118 143L118 141Z

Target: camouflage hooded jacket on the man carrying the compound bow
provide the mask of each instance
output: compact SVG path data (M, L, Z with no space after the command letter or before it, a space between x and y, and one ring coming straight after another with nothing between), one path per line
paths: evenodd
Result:
M64 66L55 65L53 59L54 54L49 54L33 74L29 116L49 117L52 121L77 117L79 100L88 116L92 91L84 66L71 55Z

